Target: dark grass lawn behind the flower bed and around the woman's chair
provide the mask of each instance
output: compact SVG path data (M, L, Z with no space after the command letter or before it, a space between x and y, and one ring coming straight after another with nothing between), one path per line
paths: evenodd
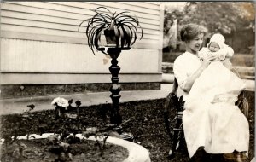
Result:
M249 158L250 161L254 157L254 92L247 92L247 100L249 101L249 126L250 126L250 143ZM164 99L152 101L131 101L120 104L120 113L123 117L123 130L131 132L134 136L134 142L139 143L147 148L150 153L152 162L187 162L189 155L185 142L182 142L177 149L176 156L170 160L166 159L167 153L171 148L172 140L166 133L164 123ZM109 122L109 109L111 104L81 107L79 116L81 120L79 124L84 126L99 126ZM35 112L34 117L43 118L43 124L47 125L45 132L53 132L54 128L61 123L52 124L52 111ZM126 122L127 121L127 122ZM2 128L1 136L4 136L4 130L8 130L10 125L16 124L14 115L4 115L1 118ZM234 128L236 129L236 128ZM37 132L35 132L37 133ZM24 136L24 135L23 135ZM218 157L222 155L209 155L207 161L218 161Z

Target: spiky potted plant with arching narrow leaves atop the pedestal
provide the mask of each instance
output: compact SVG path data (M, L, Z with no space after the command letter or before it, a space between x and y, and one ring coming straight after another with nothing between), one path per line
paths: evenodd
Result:
M106 47L130 48L137 38L143 38L143 28L140 26L136 16L129 15L127 11L112 13L105 7L98 7L94 10L96 14L90 19L83 20L80 27L87 22L86 36L89 48L95 55L94 49L99 49L101 36L104 33L107 44ZM141 32L137 31L137 28ZM140 34L140 37L138 37ZM105 53L103 50L101 50ZM106 53L105 53L106 54Z

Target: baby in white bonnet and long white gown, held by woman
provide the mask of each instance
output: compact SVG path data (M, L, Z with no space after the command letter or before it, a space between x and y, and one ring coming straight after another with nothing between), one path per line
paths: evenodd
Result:
M195 100L193 97L199 97L201 94L207 94L201 97L211 103L219 101L235 103L237 95L244 89L243 81L239 78L239 74L236 71L234 72L230 62L230 57L234 55L234 50L226 45L224 41L223 35L214 34L207 47L199 51L198 56L201 59L209 53L217 55L217 58L196 79L189 92L188 101Z

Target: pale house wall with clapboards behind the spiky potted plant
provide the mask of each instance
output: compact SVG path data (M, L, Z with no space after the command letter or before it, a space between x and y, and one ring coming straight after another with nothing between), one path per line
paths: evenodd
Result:
M26 87L43 84L53 88L63 84L83 84L87 87L89 84L110 84L108 67L111 60L101 52L93 55L87 44L84 26L78 32L82 20L94 15L93 10L99 6L108 7L113 12L129 11L137 15L143 27L143 39L137 40L129 51L122 51L119 55L119 83L145 83L145 89L148 89L148 84L154 84L159 89L163 26L160 3L3 2L1 97L7 96L6 90L17 86L27 90ZM15 92L13 95L20 96Z

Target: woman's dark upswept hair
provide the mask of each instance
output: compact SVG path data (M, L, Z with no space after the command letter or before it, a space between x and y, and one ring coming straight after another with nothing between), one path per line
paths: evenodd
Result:
M196 24L187 24L183 26L180 37L182 41L189 41L195 38L198 34L207 34L207 28Z

